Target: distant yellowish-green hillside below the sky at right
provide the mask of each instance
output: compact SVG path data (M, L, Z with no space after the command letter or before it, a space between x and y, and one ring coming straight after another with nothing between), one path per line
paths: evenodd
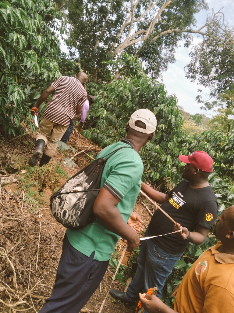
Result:
M207 129L210 129L210 118L207 117L205 114L201 114L202 116L202 120L201 122L197 125L193 120L192 120L192 114L185 112L184 109L182 108L182 106L178 105L178 109L180 111L180 113L183 115L183 126L182 128L185 131L188 131L188 133L190 135L193 134L201 134L202 131L205 131Z

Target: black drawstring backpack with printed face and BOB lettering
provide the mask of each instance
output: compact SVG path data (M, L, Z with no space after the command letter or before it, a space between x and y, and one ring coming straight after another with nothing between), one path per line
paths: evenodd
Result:
M50 209L56 220L67 228L79 229L96 220L93 204L100 191L106 161L120 147L95 160L69 178L50 198Z

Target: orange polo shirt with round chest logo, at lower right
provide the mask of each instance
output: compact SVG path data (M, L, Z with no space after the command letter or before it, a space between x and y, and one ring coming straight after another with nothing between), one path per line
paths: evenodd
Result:
M219 253L218 242L184 276L175 297L179 313L234 313L234 255Z

